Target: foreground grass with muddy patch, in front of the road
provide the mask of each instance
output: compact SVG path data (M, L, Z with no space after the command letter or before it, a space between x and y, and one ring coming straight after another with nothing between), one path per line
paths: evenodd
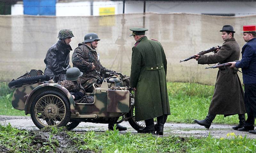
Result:
M64 128L35 131L0 125L0 151L8 152L255 152L256 140L228 133L227 138L156 136L151 134L120 134L119 131L76 133ZM65 144L65 145L64 145ZM2 149L2 150L1 150Z

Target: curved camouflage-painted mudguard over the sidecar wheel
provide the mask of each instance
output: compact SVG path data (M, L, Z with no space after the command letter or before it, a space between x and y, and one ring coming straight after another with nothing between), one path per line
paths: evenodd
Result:
M51 89L49 89L49 87ZM33 97L33 94L36 92L36 91L39 91L39 92L42 92L42 91L45 91L45 90L57 90L57 91L60 91L62 93L64 93L67 97L68 97L68 100L69 100L69 103L70 103L70 111L72 114L75 114L75 101L72 97L72 95L70 94L70 92L62 87L60 84L56 84L56 83L46 83L46 84L41 84L39 86L37 86L35 89L33 89L29 94L28 94L28 98L26 99L26 103L25 103L25 114L29 114L30 113L30 106L31 106L31 103L33 101L33 99L30 99L31 97Z

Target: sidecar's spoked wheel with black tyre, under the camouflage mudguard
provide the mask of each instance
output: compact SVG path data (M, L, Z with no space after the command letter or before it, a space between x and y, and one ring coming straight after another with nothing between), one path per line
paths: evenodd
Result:
M33 100L31 118L37 128L66 126L70 120L70 104L59 91L43 91Z

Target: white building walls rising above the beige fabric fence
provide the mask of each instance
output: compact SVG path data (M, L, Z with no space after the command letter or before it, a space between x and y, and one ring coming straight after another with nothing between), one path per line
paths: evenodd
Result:
M22 4L12 5L12 15L22 15ZM56 16L89 16L91 3L70 2L56 3ZM123 1L94 1L93 15L99 15L100 7L115 7L115 14L123 13ZM146 2L146 12L158 13L193 13L193 14L235 14L235 16L248 16L255 12L255 2ZM125 13L143 12L143 2L128 1L125 3ZM252 14L251 14L252 13Z

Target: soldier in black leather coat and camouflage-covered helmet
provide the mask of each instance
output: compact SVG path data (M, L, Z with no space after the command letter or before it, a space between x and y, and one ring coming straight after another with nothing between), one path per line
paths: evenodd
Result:
M66 71L70 68L69 52L72 48L69 43L72 37L74 35L70 29L61 29L58 35L59 41L53 44L46 53L44 74L50 76L54 82L64 80Z

